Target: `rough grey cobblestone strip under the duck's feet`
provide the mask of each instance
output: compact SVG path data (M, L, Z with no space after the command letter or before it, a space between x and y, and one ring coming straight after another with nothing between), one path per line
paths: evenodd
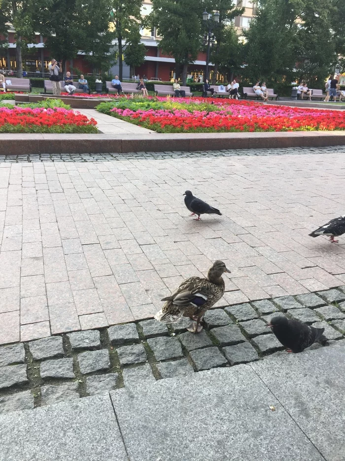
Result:
M266 327L275 315L324 327L332 344L344 339L345 286L212 309L198 335L187 320L144 320L2 346L0 414L287 354Z

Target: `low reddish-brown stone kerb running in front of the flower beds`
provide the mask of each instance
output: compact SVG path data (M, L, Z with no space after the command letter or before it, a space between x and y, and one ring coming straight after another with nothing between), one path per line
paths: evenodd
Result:
M264 149L345 145L345 131L257 133L0 134L5 155L97 154L129 152L195 152L222 149Z

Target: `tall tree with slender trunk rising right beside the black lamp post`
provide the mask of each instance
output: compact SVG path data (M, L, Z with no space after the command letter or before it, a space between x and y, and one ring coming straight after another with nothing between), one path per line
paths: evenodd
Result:
M215 2L210 2L207 11L209 10L219 12L219 23L213 30L215 46L212 49L211 54L211 62L214 64L212 84L215 84L217 80L218 66L220 60L222 59L220 48L225 40L230 38L229 31L232 30L235 32L234 28L231 28L232 21L236 16L240 16L244 12L244 8L237 8L233 0L216 0ZM234 37L231 37L231 43L229 43L232 46L235 44L233 39ZM229 54L230 50L226 49L225 51Z

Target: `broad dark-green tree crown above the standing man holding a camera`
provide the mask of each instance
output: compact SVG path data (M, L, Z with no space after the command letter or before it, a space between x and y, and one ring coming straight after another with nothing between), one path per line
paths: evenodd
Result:
M78 51L91 61L95 53L97 63L109 53L112 35L106 0L46 0L36 14L35 28L47 37L45 46L52 57L62 61L63 69Z

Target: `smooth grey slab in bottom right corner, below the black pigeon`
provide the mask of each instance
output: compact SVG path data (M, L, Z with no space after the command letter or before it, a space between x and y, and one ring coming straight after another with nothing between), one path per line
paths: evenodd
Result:
M344 461L344 345L272 357L250 367L324 458Z

